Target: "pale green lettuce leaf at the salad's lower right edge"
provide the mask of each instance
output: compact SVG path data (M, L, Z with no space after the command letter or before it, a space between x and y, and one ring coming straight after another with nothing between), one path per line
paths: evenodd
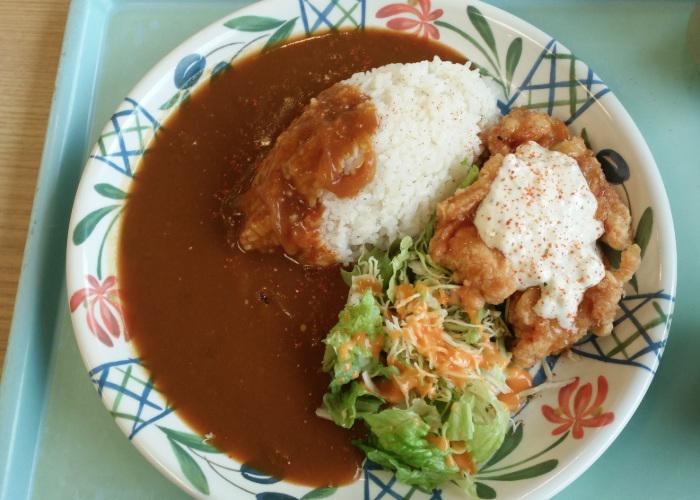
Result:
M483 382L471 383L452 402L442 435L450 441L464 441L474 463L496 453L505 438L510 413Z

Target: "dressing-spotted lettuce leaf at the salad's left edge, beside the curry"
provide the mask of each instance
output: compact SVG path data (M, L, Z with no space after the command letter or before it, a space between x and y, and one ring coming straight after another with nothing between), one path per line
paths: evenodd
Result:
M356 339L366 335L371 343L383 334L382 313L371 291L366 291L357 304L345 306L338 315L338 323L324 340L323 370L333 374L332 392L359 377L362 371L374 371L378 360L365 342Z

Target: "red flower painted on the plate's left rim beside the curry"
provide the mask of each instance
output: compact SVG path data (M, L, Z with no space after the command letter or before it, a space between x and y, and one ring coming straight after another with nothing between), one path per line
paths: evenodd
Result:
M87 324L92 334L108 347L124 332L124 340L129 341L129 334L124 328L124 315L120 304L117 279L107 276L102 283L88 275L88 287L81 288L70 298L70 311L75 312L80 305L87 308Z

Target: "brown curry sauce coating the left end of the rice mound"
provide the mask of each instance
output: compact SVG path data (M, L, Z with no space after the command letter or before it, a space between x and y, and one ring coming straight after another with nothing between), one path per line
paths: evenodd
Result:
M322 192L356 195L374 177L372 101L352 85L321 92L277 139L240 204L244 250L284 251L304 263L337 261L319 235ZM235 195L234 195L235 196Z

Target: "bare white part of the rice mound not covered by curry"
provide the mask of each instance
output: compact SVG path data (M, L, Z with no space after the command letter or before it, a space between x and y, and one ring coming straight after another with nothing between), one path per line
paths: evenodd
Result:
M365 244L387 248L415 236L454 192L481 151L479 132L498 116L492 87L468 66L435 58L389 64L345 82L372 99L374 179L352 198L324 192L321 238L340 261Z

